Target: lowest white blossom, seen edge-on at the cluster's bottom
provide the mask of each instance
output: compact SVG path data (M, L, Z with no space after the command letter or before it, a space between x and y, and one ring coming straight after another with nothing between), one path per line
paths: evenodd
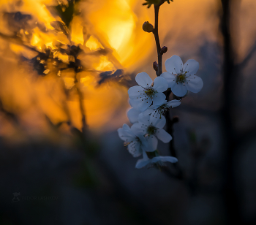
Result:
M143 151L143 159L139 159L135 165L135 168L140 169L146 167L148 164L159 164L163 165L162 163L165 161L170 161L171 163L176 163L178 161L177 158L173 156L156 156L152 159L149 159L146 152Z

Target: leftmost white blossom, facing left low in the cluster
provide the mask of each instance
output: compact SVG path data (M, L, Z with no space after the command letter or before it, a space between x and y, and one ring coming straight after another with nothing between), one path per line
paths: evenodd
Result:
M143 137L137 131L133 132L127 124L124 124L117 131L121 140L124 140L124 145L128 145L128 151L133 157L140 156L143 150L154 151L157 148L151 139Z

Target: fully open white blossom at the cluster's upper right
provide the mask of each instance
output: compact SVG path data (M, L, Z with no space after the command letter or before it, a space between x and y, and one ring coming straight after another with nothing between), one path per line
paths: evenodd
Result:
M173 94L182 97L187 91L199 92L203 88L203 80L195 74L199 69L199 64L194 59L189 59L183 64L179 56L172 56L165 61L165 69L160 77L167 80L168 87Z

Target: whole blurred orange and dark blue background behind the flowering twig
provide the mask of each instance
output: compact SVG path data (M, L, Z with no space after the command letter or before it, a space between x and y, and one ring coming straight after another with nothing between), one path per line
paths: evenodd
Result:
M193 58L204 83L170 111L184 180L135 169L116 131L135 76L156 77L143 2L0 0L0 224L256 223L256 2L159 9L163 71Z

